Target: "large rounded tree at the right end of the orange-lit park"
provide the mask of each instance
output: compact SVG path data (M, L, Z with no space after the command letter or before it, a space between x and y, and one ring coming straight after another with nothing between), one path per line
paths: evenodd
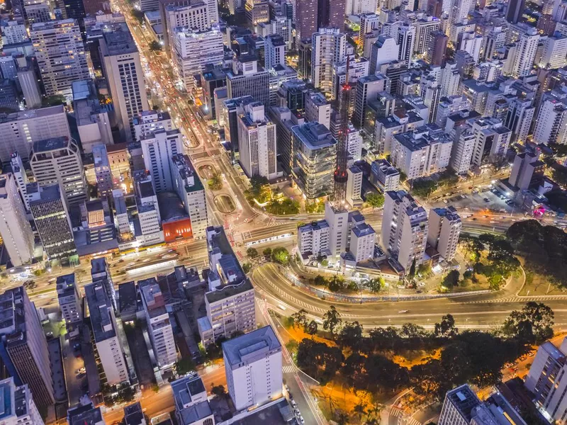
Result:
M505 334L524 344L545 341L553 336L554 312L542 302L527 302L521 311L514 310L504 322Z

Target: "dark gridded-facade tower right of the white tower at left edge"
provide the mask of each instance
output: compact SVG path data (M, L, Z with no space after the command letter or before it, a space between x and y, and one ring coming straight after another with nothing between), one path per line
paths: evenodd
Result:
M67 212L64 194L59 183L26 186L30 210L35 227L40 234L43 250L48 258L69 258L77 255L71 220Z

